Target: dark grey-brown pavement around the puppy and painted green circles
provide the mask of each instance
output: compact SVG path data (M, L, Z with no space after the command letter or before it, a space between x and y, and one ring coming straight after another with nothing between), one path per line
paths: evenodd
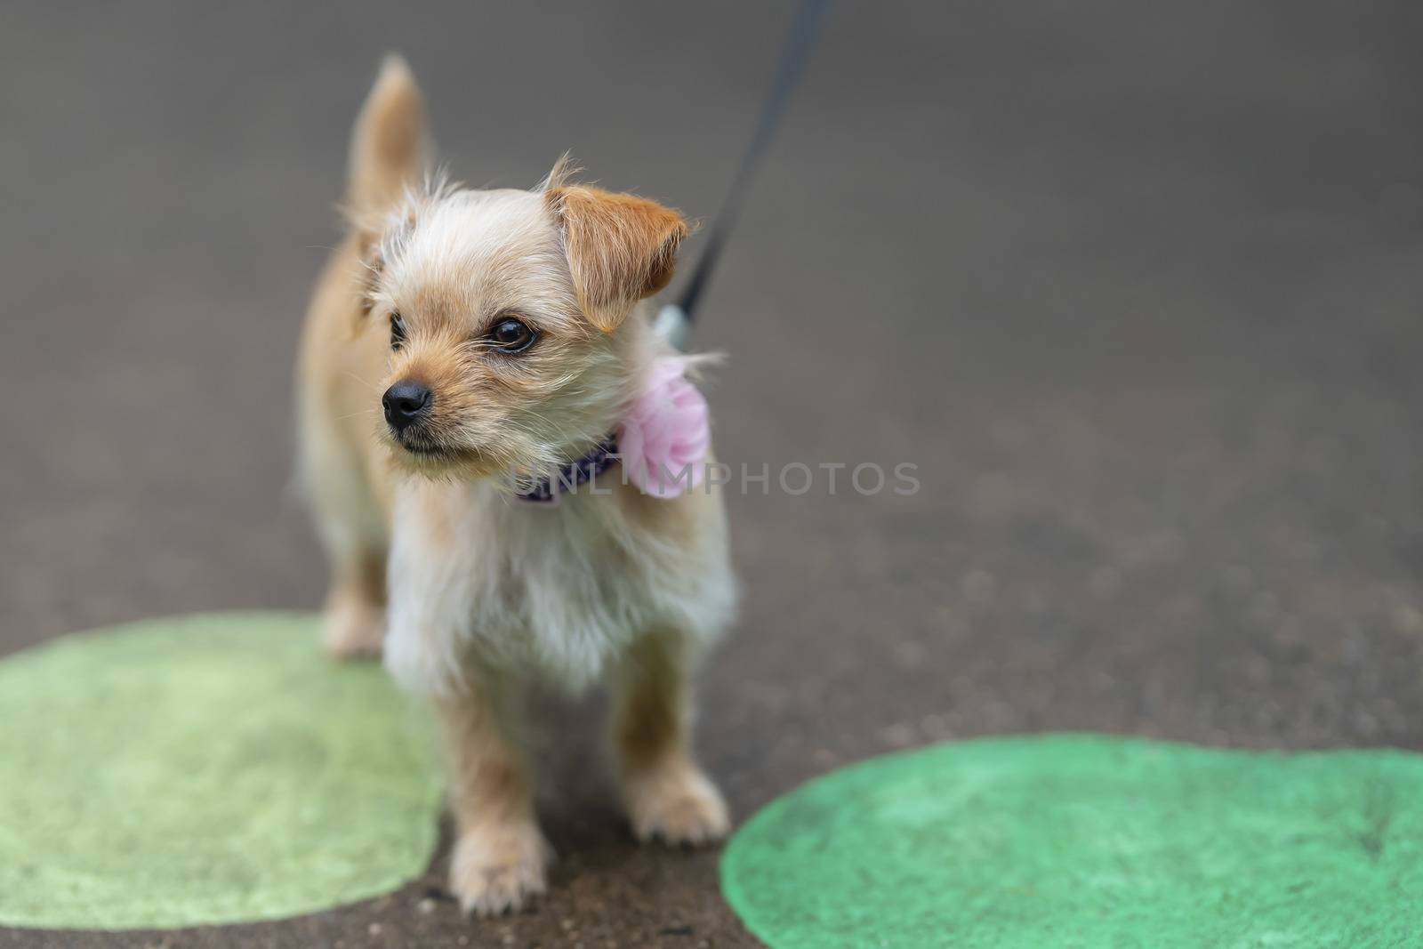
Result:
M319 602L290 363L383 51L467 181L572 148L710 216L788 13L7 4L0 652ZM726 460L922 487L731 498L700 744L739 815L980 734L1423 748L1420 40L1402 0L834 10L697 341ZM716 854L629 842L585 719L545 730L536 912L464 921L437 865L290 922L0 946L754 945Z

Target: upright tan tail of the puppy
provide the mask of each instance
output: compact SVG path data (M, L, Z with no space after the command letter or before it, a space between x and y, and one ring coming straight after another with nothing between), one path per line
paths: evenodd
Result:
M396 53L356 118L346 182L346 212L354 221L388 212L424 174L430 142L425 105L416 77Z

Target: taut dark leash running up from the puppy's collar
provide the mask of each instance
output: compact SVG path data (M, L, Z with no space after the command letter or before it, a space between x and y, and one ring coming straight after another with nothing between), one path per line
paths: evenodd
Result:
M795 83L800 80L805 60L810 55L811 46L814 46L815 30L820 27L828 7L830 0L801 0L800 7L795 10L795 20L791 23L790 34L785 37L785 46L781 51L780 68L776 71L771 91L767 94L766 105L761 108L761 120L756 125L756 134L751 135L751 144L741 157L741 164L736 169L731 188L721 202L721 209L712 223L706 249L702 250L702 259L697 260L697 269L692 272L692 279L687 280L687 286L682 292L682 299L676 304L663 307L663 312L657 317L659 329L672 339L677 349L683 349L682 344L702 293L706 290L717 259L721 256L721 248L726 245L726 239L741 213L751 174L766 157L766 149L776 137L776 127L785 112L785 104L790 101L791 91L795 88Z

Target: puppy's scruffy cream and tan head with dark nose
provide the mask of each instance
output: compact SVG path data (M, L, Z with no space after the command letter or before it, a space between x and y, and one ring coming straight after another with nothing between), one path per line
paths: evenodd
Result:
M672 279L684 221L568 185L433 188L373 242L364 332L390 334L383 438L441 478L544 474L602 441L649 356L629 320Z

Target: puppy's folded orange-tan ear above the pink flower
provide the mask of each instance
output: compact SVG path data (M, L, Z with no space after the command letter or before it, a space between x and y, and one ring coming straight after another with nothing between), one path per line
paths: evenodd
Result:
M635 195L564 185L551 176L544 202L564 232L578 303L589 322L612 333L638 300L672 280L687 222L676 211Z

